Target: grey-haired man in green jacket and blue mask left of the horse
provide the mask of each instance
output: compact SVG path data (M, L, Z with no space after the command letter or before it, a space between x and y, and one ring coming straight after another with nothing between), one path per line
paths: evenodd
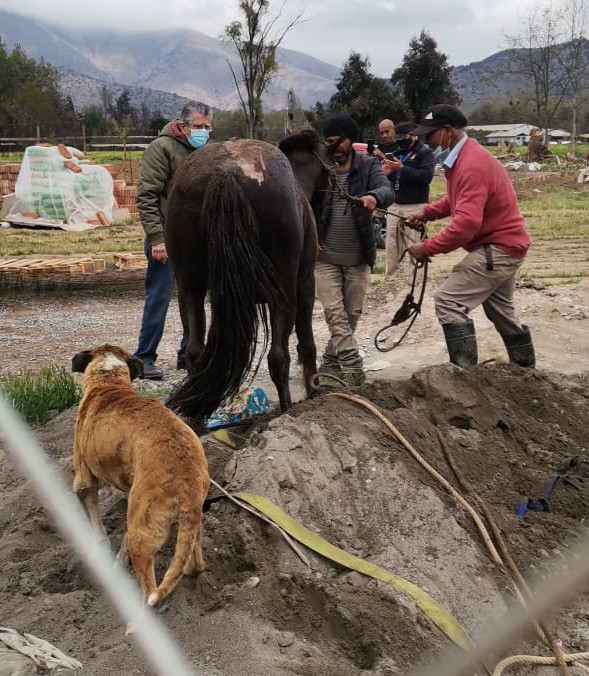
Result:
M174 288L174 270L164 243L168 195L174 173L180 164L209 140L211 118L211 109L205 103L187 103L180 119L163 128L160 135L149 144L141 160L137 209L145 230L147 272L143 318L135 356L143 362L143 377L150 380L163 378L163 372L155 362ZM178 369L186 368L186 336L182 337L176 365Z

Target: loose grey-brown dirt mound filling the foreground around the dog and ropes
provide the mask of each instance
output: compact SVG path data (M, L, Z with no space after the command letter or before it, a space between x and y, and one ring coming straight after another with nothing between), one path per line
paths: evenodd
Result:
M447 365L377 380L358 394L456 485L441 432L523 570L569 546L587 516L587 374ZM72 409L38 430L68 482L74 419ZM205 448L219 483L266 496L332 544L409 579L469 633L503 612L508 584L470 518L356 404L325 392L260 421L236 451L211 438ZM572 457L572 484L556 484L551 511L518 516L522 499L541 496ZM0 487L2 624L55 643L84 664L84 674L150 673L1 450ZM113 548L124 522L122 501L105 516ZM409 597L305 550L307 568L275 529L225 499L205 514L203 550L208 571L184 578L161 609L199 674L400 675L448 646ZM158 575L171 551L162 553ZM559 618L566 650L587 648L588 611L579 598ZM526 650L546 654L537 645Z

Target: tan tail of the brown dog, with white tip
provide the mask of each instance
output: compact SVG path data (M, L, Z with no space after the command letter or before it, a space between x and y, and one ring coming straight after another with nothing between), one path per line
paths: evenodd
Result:
M183 574L194 575L204 570L200 549L201 523L202 506L191 505L187 510L180 507L176 551L161 584L149 595L148 606L155 606L163 601L180 582Z

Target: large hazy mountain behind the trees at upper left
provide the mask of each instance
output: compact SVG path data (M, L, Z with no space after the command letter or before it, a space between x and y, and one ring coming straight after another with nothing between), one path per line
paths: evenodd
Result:
M198 31L68 31L0 10L0 38L9 50L18 43L27 56L58 68L62 91L76 108L98 103L104 84L115 95L129 88L132 101L146 100L152 109L156 101L165 101L165 110L160 110L168 115L178 112L170 112L169 106L186 98L226 110L239 105L228 65L239 73L235 49ZM279 49L277 59L280 70L264 97L266 109L286 107L291 88L303 106L326 101L335 91L340 74L335 66L288 49ZM168 101L165 92L177 100Z

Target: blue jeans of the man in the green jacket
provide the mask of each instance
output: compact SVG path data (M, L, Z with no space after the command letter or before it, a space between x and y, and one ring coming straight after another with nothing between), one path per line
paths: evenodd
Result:
M151 255L151 242L144 243L147 258L147 272L145 273L145 302L143 304L143 318L139 343L135 350L135 357L139 357L144 364L154 364L157 359L157 348L164 335L166 314L174 289L174 269L168 260L158 263ZM182 336L178 361L186 361L186 335Z

